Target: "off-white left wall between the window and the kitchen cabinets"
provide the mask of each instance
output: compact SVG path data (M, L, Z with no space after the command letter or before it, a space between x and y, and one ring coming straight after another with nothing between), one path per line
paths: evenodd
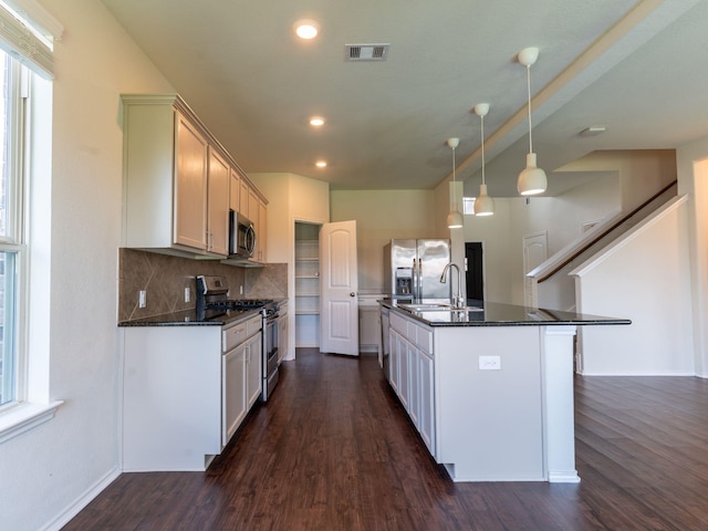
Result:
M101 2L41 1L64 34L54 46L51 219L43 223L51 283L35 295L48 308L49 395L65 403L54 419L0 446L0 527L13 531L64 523L117 471L119 94L174 92Z

